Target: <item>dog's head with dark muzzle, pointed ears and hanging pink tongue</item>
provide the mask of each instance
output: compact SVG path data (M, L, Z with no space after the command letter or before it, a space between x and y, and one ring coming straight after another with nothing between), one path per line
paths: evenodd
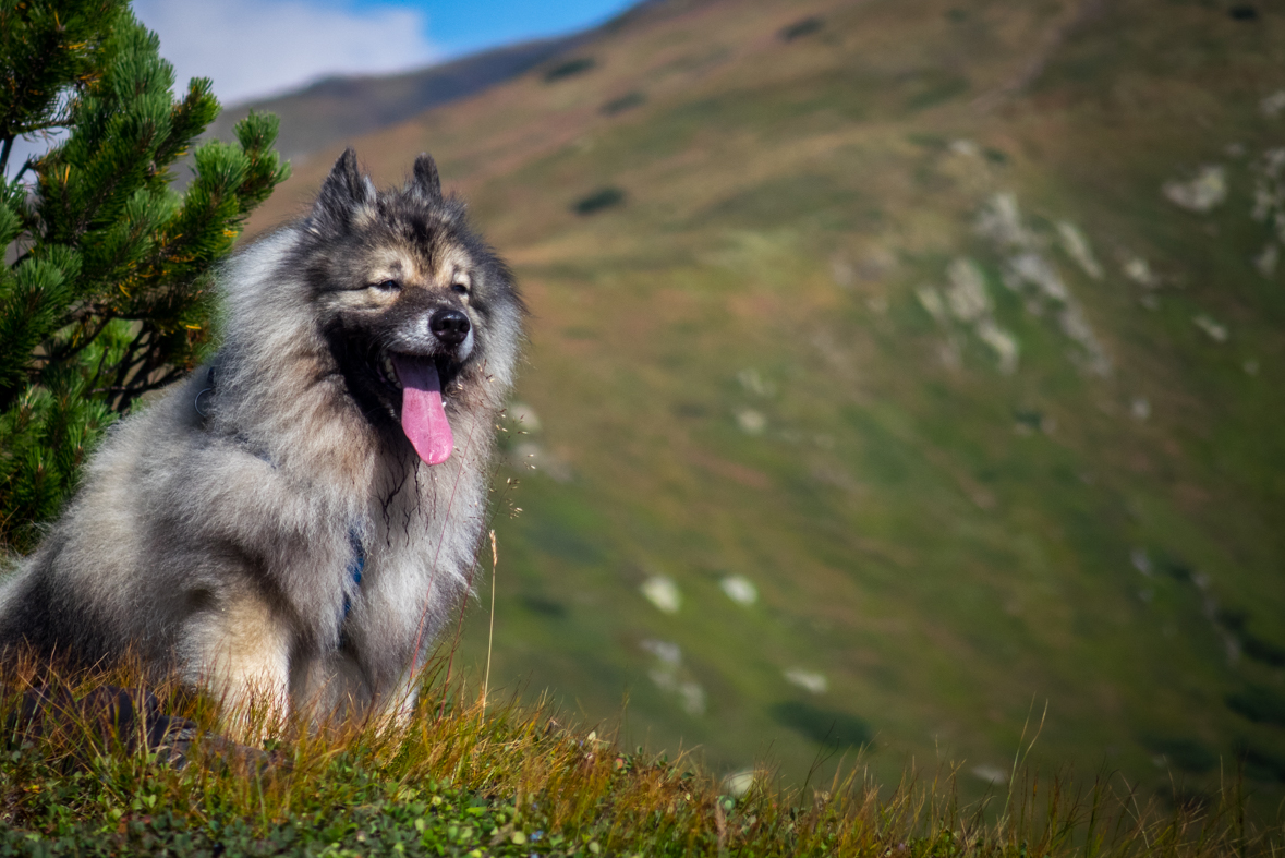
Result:
M299 274L348 393L429 465L446 461L447 414L493 407L510 381L523 306L509 270L427 154L378 191L346 150L302 227Z

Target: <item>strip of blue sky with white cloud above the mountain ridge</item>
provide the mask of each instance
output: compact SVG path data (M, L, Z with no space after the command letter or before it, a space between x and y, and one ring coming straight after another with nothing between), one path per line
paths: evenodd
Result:
M573 32L634 0L135 0L180 86L209 77L225 104L328 74L387 74Z

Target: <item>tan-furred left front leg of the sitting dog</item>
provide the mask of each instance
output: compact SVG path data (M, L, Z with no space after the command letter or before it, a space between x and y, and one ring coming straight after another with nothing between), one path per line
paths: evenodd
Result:
M289 712L290 624L258 595L230 595L189 620L185 678L220 703L225 730L247 745L276 732Z

